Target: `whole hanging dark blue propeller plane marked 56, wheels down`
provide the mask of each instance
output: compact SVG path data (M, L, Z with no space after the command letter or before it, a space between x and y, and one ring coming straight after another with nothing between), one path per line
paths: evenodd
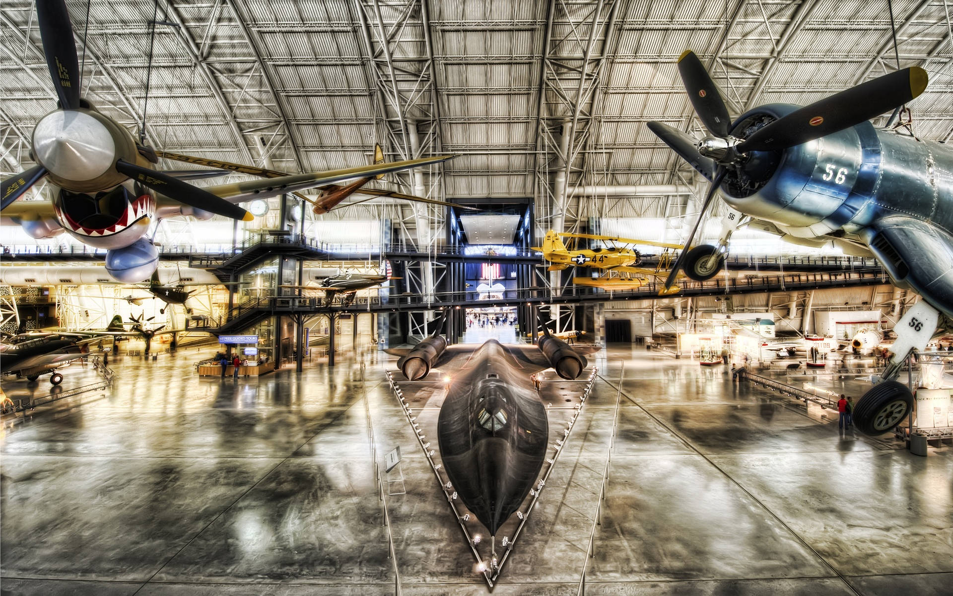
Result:
M666 287L679 270L699 280L718 274L741 223L877 257L896 285L923 297L897 323L894 357L854 409L863 433L890 430L913 405L894 380L903 361L953 318L953 152L869 120L899 113L926 89L926 72L891 72L805 107L769 104L734 121L694 52L679 57L679 74L709 135L696 141L660 122L648 126L712 184ZM737 212L726 217L718 246L688 250L719 190Z

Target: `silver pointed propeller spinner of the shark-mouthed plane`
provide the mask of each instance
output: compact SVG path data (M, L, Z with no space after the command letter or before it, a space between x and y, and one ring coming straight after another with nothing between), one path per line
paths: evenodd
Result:
M110 131L95 117L62 110L36 125L33 155L52 175L82 182L109 171L116 148Z

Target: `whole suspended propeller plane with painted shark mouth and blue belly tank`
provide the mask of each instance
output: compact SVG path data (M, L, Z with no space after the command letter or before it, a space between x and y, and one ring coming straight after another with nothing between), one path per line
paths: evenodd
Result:
M107 249L106 267L120 281L142 281L155 270L158 250L147 236L154 218L218 215L248 221L253 216L236 203L452 157L437 155L198 188L156 170L159 157L144 138L137 142L118 122L80 97L81 73L64 0L39 0L36 17L58 104L33 129L30 154L36 165L0 182L0 210L33 237L65 230L84 244ZM51 202L30 201L7 213L13 201L44 178L52 186Z

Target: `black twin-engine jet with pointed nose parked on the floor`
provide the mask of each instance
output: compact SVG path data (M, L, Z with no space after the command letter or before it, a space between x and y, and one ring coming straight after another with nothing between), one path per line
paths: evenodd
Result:
M530 375L552 367L575 380L587 365L583 354L599 348L570 347L548 333L537 345L448 346L438 334L439 326L414 348L386 352L401 356L409 380L425 380L433 368L450 377L437 421L440 457L463 504L496 536L546 459L549 422Z

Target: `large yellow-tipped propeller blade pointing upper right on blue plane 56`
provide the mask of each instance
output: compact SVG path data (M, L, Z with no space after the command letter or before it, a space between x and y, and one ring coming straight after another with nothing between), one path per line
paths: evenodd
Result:
M775 120L738 144L740 152L779 151L857 126L912 101L926 89L919 67L890 72Z

